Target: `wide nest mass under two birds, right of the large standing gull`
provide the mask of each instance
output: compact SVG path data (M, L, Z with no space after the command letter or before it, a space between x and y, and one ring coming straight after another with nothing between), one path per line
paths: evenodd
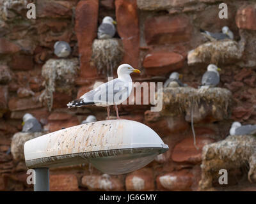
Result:
M193 87L166 87L163 89L163 112L179 115L191 108L198 108L202 103L214 105L228 115L231 92L219 87L195 89Z

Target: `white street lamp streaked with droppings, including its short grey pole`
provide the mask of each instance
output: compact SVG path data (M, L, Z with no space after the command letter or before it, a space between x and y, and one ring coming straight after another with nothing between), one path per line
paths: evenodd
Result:
M168 145L145 124L132 120L103 120L40 136L24 145L26 166L37 180L47 178L40 168L92 163L103 173L123 174L150 163ZM40 184L42 182L39 182ZM35 184L37 186L37 184ZM48 171L49 186L49 171ZM47 191L47 187L34 190Z

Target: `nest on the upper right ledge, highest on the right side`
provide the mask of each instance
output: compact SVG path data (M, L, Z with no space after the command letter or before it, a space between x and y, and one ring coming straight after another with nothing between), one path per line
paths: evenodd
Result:
M189 51L188 64L228 64L241 59L244 46L233 40L211 41Z

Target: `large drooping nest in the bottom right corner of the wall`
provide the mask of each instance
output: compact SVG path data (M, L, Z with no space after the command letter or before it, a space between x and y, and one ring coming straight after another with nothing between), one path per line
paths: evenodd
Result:
M248 180L256 182L256 138L250 135L228 136L220 142L205 145L202 151L200 189L212 187L221 169L232 170L250 166Z

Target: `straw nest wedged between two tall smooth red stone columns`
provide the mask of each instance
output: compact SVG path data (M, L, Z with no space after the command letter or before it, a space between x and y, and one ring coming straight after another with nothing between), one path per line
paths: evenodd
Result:
M117 38L95 39L92 45L91 61L100 74L113 77L113 71L118 68L122 61L123 53L122 40Z

